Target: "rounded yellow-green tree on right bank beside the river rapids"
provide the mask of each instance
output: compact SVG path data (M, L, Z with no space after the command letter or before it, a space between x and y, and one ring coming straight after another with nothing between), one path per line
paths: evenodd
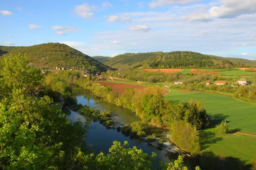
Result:
M200 151L199 136L196 127L188 122L174 122L171 127L170 139L186 152L198 154Z

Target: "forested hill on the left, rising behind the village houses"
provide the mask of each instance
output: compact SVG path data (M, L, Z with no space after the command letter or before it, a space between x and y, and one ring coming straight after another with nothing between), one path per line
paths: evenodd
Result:
M107 71L110 67L96 61L90 56L60 43L46 43L28 47L0 46L3 54L27 54L29 65L39 68L65 67L86 68L90 71Z

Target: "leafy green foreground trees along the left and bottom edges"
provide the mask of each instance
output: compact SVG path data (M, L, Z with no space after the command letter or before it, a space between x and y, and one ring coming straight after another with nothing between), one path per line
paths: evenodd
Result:
M1 62L1 169L151 169L156 154L148 155L136 147L129 148L128 142L114 141L107 154L90 153L82 138L94 120L94 112L83 107L80 112L86 120L84 125L80 121L70 122L49 96L39 95L52 85L46 87L41 71L27 64L22 55L6 56ZM181 157L159 169L187 170Z

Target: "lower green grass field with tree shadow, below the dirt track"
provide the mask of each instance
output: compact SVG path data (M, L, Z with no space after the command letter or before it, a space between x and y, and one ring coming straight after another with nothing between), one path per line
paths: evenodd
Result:
M216 128L201 130L201 150L212 152L221 156L232 156L250 164L256 156L256 137L238 134L221 134Z

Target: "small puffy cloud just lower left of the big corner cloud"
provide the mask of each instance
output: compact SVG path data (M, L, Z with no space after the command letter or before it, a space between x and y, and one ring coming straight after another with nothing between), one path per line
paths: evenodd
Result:
M182 16L182 19L188 21L210 21L211 18L209 14L203 11L194 11L190 14L185 14Z

